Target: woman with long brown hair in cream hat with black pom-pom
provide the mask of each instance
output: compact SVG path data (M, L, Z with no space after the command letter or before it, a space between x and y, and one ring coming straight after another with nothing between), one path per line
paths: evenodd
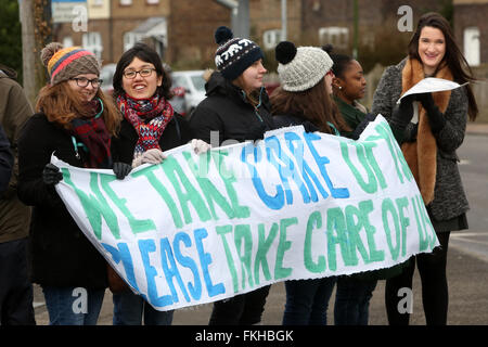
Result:
M283 41L275 48L281 86L271 94L278 128L303 125L306 131L339 136L350 128L330 94L332 65L329 54L316 47L298 47ZM283 325L326 325L329 299L335 277L286 281Z

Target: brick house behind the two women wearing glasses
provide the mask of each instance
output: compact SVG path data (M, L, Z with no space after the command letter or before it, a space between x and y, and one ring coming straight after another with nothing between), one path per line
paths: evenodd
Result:
M115 63L137 41L175 63L211 59L214 31L230 25L230 10L214 0L88 0L87 30L54 24L54 40L82 46L103 64Z

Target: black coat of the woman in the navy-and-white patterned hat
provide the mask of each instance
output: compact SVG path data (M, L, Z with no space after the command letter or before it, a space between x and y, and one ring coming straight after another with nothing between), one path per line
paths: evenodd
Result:
M256 110L247 102L243 91L220 73L214 73L205 88L207 98L198 104L190 119L195 138L217 146L226 140L257 140L267 130L274 129L265 88ZM219 143L211 143L210 131L218 131Z

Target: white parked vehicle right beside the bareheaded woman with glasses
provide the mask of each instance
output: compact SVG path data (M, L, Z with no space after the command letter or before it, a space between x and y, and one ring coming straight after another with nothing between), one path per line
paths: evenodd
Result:
M177 108L177 104L181 101L181 114L191 116L193 110L205 99L205 79L203 74L205 70L185 70L172 72L172 91L175 97L171 99L171 104Z

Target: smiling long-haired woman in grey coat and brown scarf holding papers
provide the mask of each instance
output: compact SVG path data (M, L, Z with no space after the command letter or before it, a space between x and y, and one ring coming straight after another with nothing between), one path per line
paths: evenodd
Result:
M426 77L458 83L472 81L471 69L454 41L449 23L437 13L424 14L413 34L409 55L384 72L374 94L373 113L391 121L399 98ZM419 105L412 104L413 100ZM448 284L446 260L449 234L467 229L468 203L455 150L462 144L467 117L474 120L477 105L470 86L436 93L412 94L402 100L404 127L399 141L436 231L440 247L420 254L398 277L386 281L385 303L390 324L408 324L409 313L399 312L398 291L412 287L415 262L422 280L422 299L427 324L446 324ZM419 107L418 121L413 107ZM409 124L410 123L410 124Z

